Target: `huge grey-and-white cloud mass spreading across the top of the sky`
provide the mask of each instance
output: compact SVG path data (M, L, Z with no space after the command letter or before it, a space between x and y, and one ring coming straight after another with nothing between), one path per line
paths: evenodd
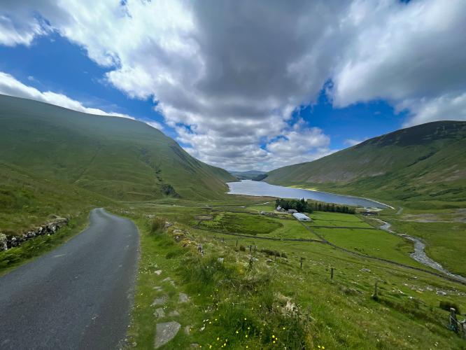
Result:
M109 83L153 99L187 151L227 168L331 152L322 130L293 115L328 81L336 107L386 99L409 109L408 124L463 118L463 0L6 4L0 43L27 45L57 31L107 67Z

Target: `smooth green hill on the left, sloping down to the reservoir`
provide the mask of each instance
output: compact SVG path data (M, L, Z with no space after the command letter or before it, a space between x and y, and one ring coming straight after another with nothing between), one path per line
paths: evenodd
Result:
M234 181L145 123L3 95L0 161L113 200L215 198Z

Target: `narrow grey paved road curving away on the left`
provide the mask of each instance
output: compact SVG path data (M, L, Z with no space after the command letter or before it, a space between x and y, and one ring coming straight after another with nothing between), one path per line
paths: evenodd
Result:
M87 230L0 277L0 349L116 349L129 324L139 235L94 209Z

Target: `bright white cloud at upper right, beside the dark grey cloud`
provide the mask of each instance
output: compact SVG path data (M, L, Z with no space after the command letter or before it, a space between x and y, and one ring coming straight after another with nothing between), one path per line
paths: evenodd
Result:
M354 1L333 76L334 106L386 99L404 125L464 120L466 1Z

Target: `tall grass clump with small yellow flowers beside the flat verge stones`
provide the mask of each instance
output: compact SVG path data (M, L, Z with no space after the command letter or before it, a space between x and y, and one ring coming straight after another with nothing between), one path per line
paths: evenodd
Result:
M273 269L247 269L228 252L223 262L219 257L188 253L178 269L185 286L211 304L206 318L215 320L214 339L229 339L230 346L311 348L309 315L279 297Z

